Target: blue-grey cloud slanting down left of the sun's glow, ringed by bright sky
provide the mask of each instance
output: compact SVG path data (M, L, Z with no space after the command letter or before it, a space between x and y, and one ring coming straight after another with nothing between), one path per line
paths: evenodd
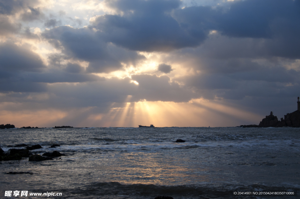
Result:
M88 72L111 72L119 70L121 62L134 63L144 58L104 42L90 28L60 26L45 31L43 37L68 57L88 61Z

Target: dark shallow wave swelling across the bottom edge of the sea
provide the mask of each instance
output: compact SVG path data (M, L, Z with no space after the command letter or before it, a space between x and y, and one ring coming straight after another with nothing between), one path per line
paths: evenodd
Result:
M295 187L265 186L259 184L202 184L163 186L154 184L125 184L118 182L91 183L82 189L73 190L75 195L94 195L95 198L155 198L160 195L173 198L240 198L234 192L299 192ZM118 197L119 196L119 197ZM292 196L295 197L295 196ZM243 198L261 198L259 195L244 195Z

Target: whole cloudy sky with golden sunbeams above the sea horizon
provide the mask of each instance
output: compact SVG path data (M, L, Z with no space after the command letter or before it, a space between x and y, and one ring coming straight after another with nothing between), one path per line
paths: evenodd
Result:
M239 126L300 96L300 0L0 0L0 123Z

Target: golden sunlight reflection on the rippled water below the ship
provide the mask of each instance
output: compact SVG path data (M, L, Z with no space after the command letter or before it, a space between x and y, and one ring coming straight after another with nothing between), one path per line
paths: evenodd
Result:
M106 168L102 177L107 175L108 181L125 184L193 184L212 180L208 168L191 162L190 157L172 158L162 153L125 153L98 165L99 170Z

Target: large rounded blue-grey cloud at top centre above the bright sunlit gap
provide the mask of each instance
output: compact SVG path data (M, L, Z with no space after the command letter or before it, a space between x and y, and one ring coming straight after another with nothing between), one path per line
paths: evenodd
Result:
M109 1L111 7L124 15L98 16L93 26L100 37L131 50L168 51L197 46L206 35L193 37L181 28L170 15L180 5L179 0L123 0Z

